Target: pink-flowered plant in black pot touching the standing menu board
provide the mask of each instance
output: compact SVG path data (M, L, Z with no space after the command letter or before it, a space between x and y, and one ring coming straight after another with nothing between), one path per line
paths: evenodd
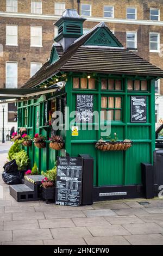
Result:
M55 180L57 176L57 167L54 167L51 170L47 170L46 173L43 171L41 172L42 175L45 176L44 179L42 179L42 198L46 200L46 203L48 203L48 200L55 200Z

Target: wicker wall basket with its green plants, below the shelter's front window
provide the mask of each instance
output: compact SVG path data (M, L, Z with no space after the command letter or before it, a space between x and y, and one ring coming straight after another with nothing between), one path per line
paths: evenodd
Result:
M102 138L96 143L95 148L101 151L125 151L131 147L132 141L124 139L124 141L117 141L118 137L116 132L114 138L108 137L109 141L104 141Z

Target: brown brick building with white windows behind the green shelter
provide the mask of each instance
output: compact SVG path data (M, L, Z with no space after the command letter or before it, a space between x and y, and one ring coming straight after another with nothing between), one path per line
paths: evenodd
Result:
M161 0L0 0L0 88L12 87L11 81L17 81L14 87L21 87L46 62L57 33L53 23L67 8L79 9L87 18L85 31L104 21L124 47L131 46L136 54L163 69ZM32 45L33 41L40 45ZM10 77L13 65L17 74ZM156 87L156 93L163 95L163 81ZM163 117L162 106L160 98L156 119ZM12 125L8 117L5 121Z

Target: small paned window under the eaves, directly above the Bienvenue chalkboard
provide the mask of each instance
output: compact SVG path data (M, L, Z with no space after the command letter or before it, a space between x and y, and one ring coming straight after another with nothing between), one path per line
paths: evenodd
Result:
M95 78L73 78L73 89L96 89Z

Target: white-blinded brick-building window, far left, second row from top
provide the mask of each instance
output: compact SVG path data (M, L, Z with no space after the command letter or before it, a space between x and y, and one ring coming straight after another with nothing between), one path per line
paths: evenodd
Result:
M17 46L17 26L6 26L6 45Z

